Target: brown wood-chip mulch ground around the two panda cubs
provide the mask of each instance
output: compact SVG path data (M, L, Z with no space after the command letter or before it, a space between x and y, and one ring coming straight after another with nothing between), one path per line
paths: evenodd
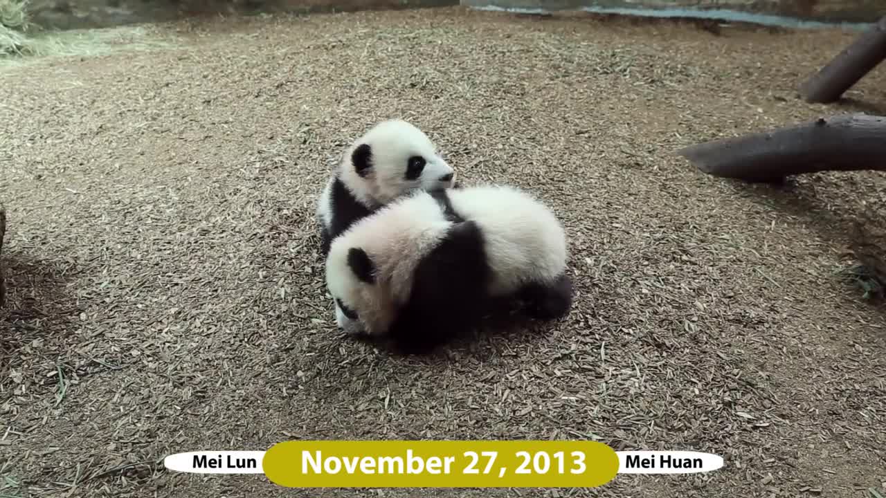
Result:
M458 496L864 496L886 481L886 320L839 271L873 173L779 189L705 176L687 144L867 110L797 83L854 33L462 9L214 19L177 48L0 74L7 496L277 496L163 456L289 439L595 439L727 467ZM561 323L430 358L336 330L315 198L400 116L466 184L510 183L567 228ZM292 496L435 496L311 490Z

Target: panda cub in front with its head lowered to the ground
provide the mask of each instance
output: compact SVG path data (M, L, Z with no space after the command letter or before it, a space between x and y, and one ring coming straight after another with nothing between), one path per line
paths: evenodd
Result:
M551 210L507 186L416 191L330 245L326 284L349 334L427 353L477 323L492 302L528 315L569 312L567 244Z

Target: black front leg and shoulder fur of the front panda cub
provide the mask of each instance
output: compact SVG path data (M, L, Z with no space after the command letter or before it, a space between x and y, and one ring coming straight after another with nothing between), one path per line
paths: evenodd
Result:
M402 353L427 354L470 330L486 311L492 268L475 222L460 222L419 263L412 293L388 331Z

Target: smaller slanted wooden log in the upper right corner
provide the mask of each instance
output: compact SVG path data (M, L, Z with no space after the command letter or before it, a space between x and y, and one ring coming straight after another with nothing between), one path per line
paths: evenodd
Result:
M800 86L800 95L806 102L835 102L883 58L886 58L886 16L812 74Z

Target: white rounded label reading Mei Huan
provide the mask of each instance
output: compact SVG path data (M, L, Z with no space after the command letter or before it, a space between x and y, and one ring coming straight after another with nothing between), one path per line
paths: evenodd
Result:
M697 451L617 451L619 474L692 474L716 471L723 457Z

